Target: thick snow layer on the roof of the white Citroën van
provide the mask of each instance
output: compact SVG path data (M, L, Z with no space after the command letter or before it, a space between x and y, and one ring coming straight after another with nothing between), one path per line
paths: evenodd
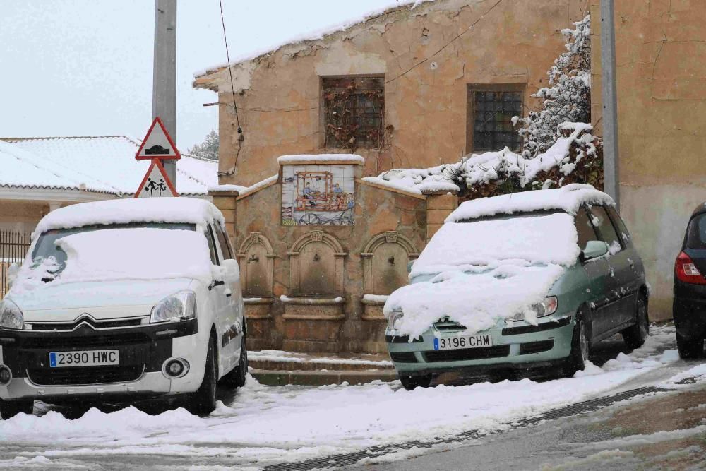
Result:
M32 237L51 229L131 222L224 222L220 210L198 198L126 198L66 206L42 217Z

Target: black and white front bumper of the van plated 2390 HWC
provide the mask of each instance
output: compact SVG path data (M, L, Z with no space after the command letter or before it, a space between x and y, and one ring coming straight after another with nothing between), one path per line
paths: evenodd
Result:
M76 328L72 331L0 329L0 364L12 378L0 384L2 400L84 400L155 397L188 393L203 380L207 342L196 320L131 328ZM118 350L117 366L51 368L49 352ZM186 359L181 378L162 372L171 358Z

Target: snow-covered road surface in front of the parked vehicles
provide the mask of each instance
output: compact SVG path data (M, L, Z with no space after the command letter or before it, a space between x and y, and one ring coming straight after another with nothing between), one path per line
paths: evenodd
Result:
M312 388L262 386L250 378L205 418L183 409L150 416L128 407L92 409L69 420L48 410L0 421L0 467L258 469L468 429L501 431L554 407L664 381L681 368L674 348L674 328L653 326L639 350L621 352L600 368L590 365L574 378L414 391L397 381Z

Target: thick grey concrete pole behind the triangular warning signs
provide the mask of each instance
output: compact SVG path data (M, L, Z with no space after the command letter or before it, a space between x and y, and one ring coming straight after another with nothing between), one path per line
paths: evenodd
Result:
M155 0L155 63L152 119L160 117L177 144L177 0ZM164 160L167 177L177 186L177 161Z

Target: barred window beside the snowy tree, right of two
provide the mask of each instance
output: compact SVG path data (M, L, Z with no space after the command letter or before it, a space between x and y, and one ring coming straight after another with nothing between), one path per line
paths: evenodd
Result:
M467 151L520 150L513 117L522 117L524 84L469 85Z

